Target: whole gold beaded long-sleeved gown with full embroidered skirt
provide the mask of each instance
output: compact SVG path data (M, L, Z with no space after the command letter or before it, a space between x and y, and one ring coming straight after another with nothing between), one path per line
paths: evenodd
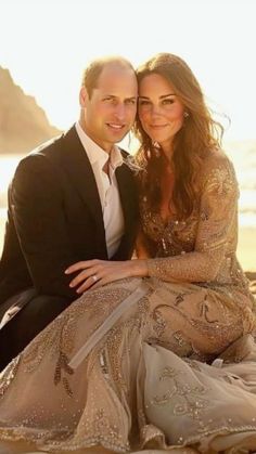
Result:
M10 452L24 442L53 453L256 451L256 319L235 258L236 180L220 152L199 178L187 221L166 223L141 199L149 277L85 293L7 366Z

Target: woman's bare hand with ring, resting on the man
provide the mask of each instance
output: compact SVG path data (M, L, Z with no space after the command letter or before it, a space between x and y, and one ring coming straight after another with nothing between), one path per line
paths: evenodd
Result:
M86 260L72 264L65 271L65 274L72 274L80 271L71 282L69 287L78 287L77 294L82 294L92 287L108 284L114 281L131 276L148 276L146 260Z

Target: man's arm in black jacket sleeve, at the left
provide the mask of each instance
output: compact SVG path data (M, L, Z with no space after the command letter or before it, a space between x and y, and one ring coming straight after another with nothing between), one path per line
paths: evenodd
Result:
M77 261L68 238L57 169L43 155L21 161L11 186L14 223L39 294L75 299L65 269Z

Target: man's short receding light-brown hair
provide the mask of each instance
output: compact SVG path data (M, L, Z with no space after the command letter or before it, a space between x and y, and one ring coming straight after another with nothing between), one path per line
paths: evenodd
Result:
M123 56L106 56L93 60L85 69L81 79L81 87L86 88L89 98L91 98L92 90L97 88L98 80L102 70L107 65L116 65L119 67L129 68L135 72L131 63Z

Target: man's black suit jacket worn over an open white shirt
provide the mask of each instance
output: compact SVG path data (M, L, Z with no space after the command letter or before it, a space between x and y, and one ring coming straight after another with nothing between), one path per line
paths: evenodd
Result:
M124 152L125 153L125 152ZM114 260L131 257L138 200L126 164L116 170L125 234ZM0 262L0 303L28 287L77 298L64 270L80 260L107 260L102 207L89 159L75 127L18 165L9 190Z

